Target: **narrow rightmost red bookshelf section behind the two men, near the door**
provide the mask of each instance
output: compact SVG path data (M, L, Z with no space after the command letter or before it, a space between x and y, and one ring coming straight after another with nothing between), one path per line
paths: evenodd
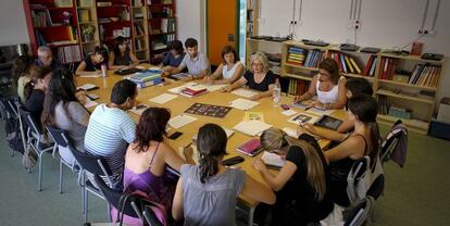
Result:
M177 37L175 0L147 0L148 48L150 59L167 51Z

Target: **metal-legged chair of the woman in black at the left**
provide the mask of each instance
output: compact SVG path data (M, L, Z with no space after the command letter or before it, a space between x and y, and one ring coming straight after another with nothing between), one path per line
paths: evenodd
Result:
M25 122L25 124L22 123L22 126L21 126L21 128L24 131L23 140L26 142L26 147L30 147L38 155L38 162L39 162L38 191L40 191L41 179L42 179L42 154L46 152L52 151L53 147L52 146L46 147L46 145L41 142L42 137L45 135L37 126L37 123L32 117L32 114L22 106L18 106L17 109L18 109L18 113L21 115L22 122ZM26 150L26 147L24 150ZM30 168L28 168L28 173L29 172L30 172Z

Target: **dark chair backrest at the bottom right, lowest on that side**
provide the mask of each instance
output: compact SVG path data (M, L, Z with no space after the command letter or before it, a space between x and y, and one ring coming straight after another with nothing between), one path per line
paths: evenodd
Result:
M374 198L366 197L359 204L352 208L346 218L343 226L362 225L370 216L374 206Z

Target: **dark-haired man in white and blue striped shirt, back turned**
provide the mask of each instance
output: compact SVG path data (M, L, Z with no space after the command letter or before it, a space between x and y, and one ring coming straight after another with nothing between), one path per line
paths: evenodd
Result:
M136 124L126 111L135 105L137 95L136 84L128 79L114 84L111 102L93 110L86 130L86 151L103 158L112 172L112 187L117 190L123 186L126 149L136 136Z

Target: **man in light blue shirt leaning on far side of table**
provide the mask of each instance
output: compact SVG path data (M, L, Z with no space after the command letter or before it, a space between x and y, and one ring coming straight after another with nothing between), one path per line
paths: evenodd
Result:
M172 75L180 73L185 67L188 68L188 75L183 77L182 80L200 79L210 74L210 62L208 58L198 51L198 42L193 38L188 38L185 41L186 51L185 55L178 67L165 68L164 75Z

